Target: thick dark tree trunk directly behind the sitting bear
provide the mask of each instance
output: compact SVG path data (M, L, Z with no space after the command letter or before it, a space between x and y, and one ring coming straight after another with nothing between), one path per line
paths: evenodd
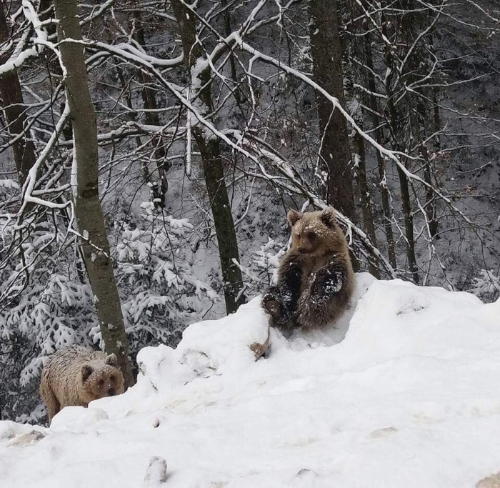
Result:
M309 28L314 81L345 106L342 75L341 44L336 0L309 0ZM326 201L356 220L354 213L351 153L344 116L331 103L316 94L320 134L323 137L319 154L326 171Z

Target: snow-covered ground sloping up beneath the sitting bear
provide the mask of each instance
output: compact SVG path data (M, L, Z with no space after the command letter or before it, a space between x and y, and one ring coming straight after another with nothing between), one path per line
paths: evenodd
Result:
M500 301L359 274L336 329L266 338L254 299L120 397L0 422L0 487L500 487Z

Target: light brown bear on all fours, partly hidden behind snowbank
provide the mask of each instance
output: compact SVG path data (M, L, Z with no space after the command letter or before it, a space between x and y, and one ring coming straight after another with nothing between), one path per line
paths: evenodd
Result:
M79 405L124 392L124 377L115 354L71 346L47 360L41 373L40 396L52 417L64 407Z

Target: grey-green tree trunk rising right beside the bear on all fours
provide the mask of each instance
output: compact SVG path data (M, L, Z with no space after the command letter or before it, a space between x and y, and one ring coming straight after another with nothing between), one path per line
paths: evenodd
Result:
M96 300L99 326L107 353L116 354L126 387L134 384L129 360L121 304L109 256L109 241L99 200L96 114L87 81L84 48L64 42L81 40L76 0L55 0L59 20L58 37L61 57L66 66L64 80L74 134L74 204L76 221L83 238L86 270Z

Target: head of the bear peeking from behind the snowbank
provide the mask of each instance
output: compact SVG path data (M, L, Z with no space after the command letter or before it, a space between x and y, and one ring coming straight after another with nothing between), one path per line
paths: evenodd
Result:
M84 391L94 400L124 392L124 376L115 354L109 354L104 360L96 359L84 364L81 367L81 380Z

